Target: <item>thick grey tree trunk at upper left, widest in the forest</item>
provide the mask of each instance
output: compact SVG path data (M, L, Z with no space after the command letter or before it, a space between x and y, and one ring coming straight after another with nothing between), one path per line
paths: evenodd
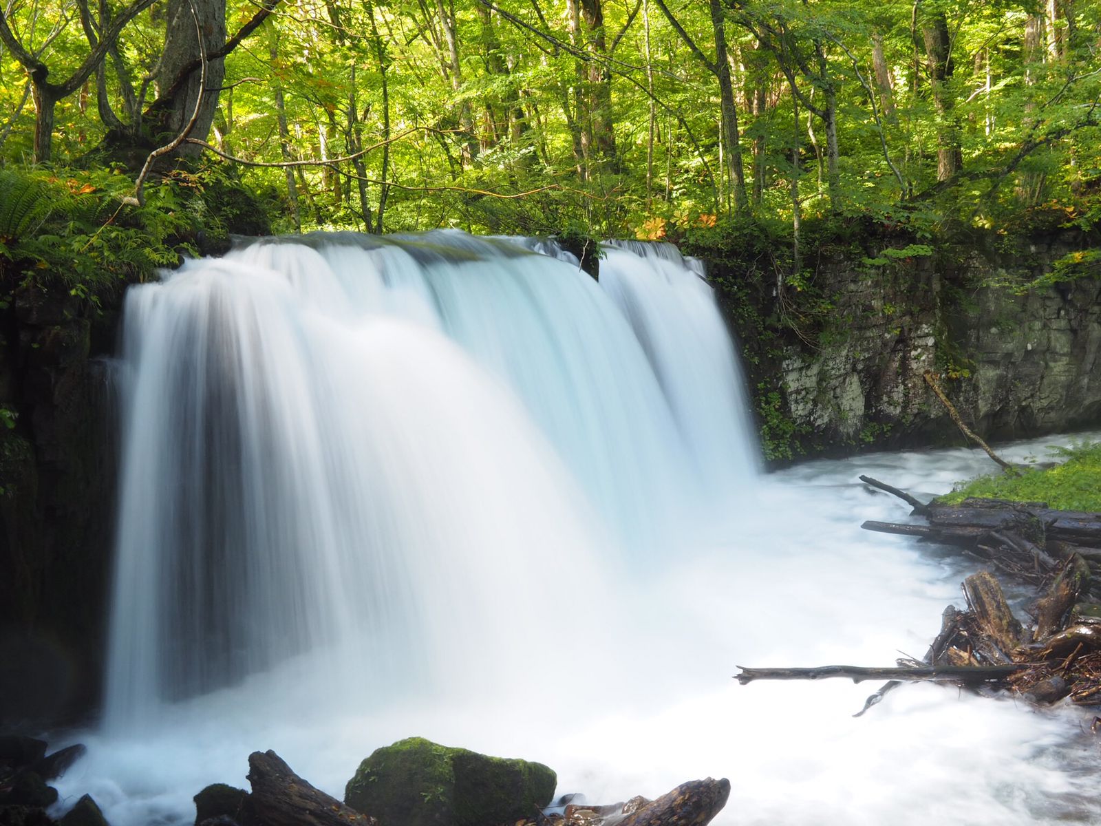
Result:
M194 8L194 13L193 13ZM161 93L172 88L184 68L201 56L197 29L203 34L203 47L206 53L220 48L226 43L226 0L168 0L168 17L164 32L164 55L157 85ZM161 121L154 126L162 138L173 138L183 131L195 113L196 101L199 98L200 72L195 70L179 84L171 107L163 113ZM218 89L226 77L225 58L217 58L207 64L206 89L201 90L203 100L199 105L195 126L190 137L206 140L214 122L215 110L218 108ZM201 148L184 143L177 150L182 155L196 155Z

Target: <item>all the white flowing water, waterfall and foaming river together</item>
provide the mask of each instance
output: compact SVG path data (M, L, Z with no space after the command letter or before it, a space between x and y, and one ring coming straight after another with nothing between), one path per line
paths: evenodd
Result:
M757 476L709 291L667 250L613 250L598 287L450 233L314 246L131 294L108 716L69 803L189 822L269 748L341 796L421 735L590 800L728 776L728 824L1101 814L1081 711L907 686L852 719L875 686L730 678L923 654L966 568L862 533L905 508L855 476L931 493L979 458Z

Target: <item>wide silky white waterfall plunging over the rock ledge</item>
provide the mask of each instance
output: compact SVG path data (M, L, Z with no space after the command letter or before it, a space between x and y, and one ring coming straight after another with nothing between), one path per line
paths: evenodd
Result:
M667 246L598 284L534 241L258 240L132 289L119 373L118 727L295 657L380 697L588 650L607 584L757 465ZM564 583L585 608L501 621Z

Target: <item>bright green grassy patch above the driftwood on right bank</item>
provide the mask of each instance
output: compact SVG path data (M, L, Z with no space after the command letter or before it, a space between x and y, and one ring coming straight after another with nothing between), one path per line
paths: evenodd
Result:
M964 499L1010 499L1046 502L1049 508L1101 511L1101 443L1056 448L1064 461L1049 468L1027 468L1016 476L998 474L960 482L938 501L958 504Z

